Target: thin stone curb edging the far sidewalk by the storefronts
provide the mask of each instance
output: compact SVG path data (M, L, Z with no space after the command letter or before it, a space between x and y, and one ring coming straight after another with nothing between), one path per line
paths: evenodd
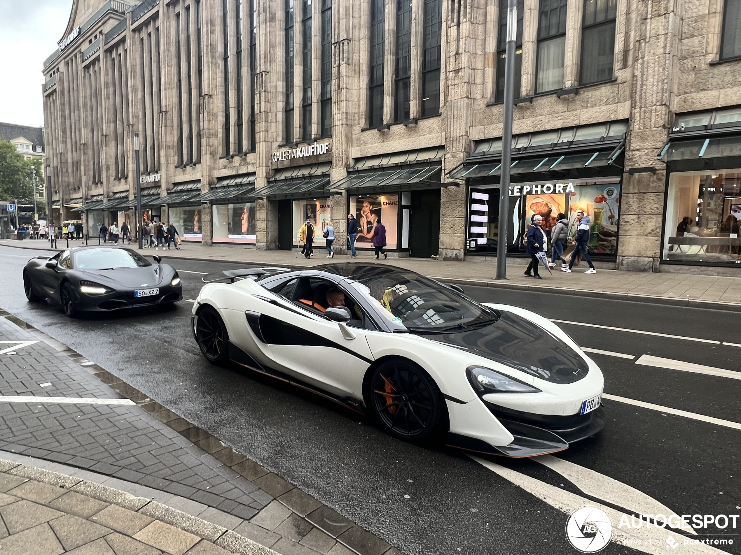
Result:
M7 245L1 243L2 246L10 246L14 249L26 249L30 250L32 247L20 246L20 245ZM35 248L34 248L35 249ZM64 249L35 249L35 250L48 250L53 252L59 252ZM173 260L197 260L199 262L222 262L227 264L250 264L258 265L262 264L258 262L246 262L242 260L222 260L217 258L190 258L173 255L160 255L162 258L171 258ZM292 264L283 264L282 266L291 269L305 269L311 266L294 266ZM682 299L672 297L658 297L656 295L635 295L634 293L616 293L609 291L594 291L590 289L571 289L569 287L551 287L542 285L525 285L522 283L505 283L502 281L485 281L485 280L466 280L457 277L432 277L434 280L442 281L445 283L456 283L456 285L469 285L476 287L489 287L491 289L513 289L515 291L531 291L535 293L549 293L551 295L572 295L574 297L590 297L590 298L601 298L611 300L626 300L631 303L646 303L646 304L657 304L662 306L685 306L691 309L708 309L708 310L724 310L727 312L741 312L741 303L722 303L714 300L700 300L700 299Z

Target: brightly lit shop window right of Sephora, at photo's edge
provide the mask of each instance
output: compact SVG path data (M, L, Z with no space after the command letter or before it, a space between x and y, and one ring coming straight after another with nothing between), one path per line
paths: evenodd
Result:
M669 176L662 259L741 264L741 169Z

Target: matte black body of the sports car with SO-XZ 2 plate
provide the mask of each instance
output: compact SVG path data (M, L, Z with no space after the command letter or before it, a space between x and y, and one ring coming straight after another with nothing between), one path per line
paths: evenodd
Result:
M23 269L24 288L29 300L42 300L44 297L64 306L65 291L73 295L73 313L110 312L139 306L155 306L175 303L182 300L182 283L171 285L173 278L179 277L169 264L163 264L159 257L149 266L116 269L80 269L75 265L75 253L90 249L125 249L122 246L82 246L59 252L52 257L31 258ZM59 265L70 255L70 267ZM51 262L51 264L49 264ZM81 282L99 284L106 289L101 295L87 295L81 292ZM159 288L158 295L135 297L134 291ZM30 289L30 291L29 291Z

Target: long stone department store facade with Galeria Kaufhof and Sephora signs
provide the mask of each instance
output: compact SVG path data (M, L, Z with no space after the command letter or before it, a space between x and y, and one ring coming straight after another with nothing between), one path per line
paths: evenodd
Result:
M144 217L186 240L290 249L309 219L345 252L351 212L359 248L381 220L392 255L491 260L503 1L74 0L44 63L53 199L133 223L138 133ZM582 209L605 266L741 275L741 0L518 13L508 252Z

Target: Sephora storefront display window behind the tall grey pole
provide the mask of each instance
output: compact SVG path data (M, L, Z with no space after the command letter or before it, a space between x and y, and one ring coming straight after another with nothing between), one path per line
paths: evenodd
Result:
M523 237L532 218L540 215L543 228L551 229L563 214L569 220L568 235L576 235L576 212L590 218L588 250L592 255L617 256L620 180L604 178L568 183L536 182L510 187L507 251L524 253ZM496 253L499 238L499 187L471 188L466 248L471 253Z

